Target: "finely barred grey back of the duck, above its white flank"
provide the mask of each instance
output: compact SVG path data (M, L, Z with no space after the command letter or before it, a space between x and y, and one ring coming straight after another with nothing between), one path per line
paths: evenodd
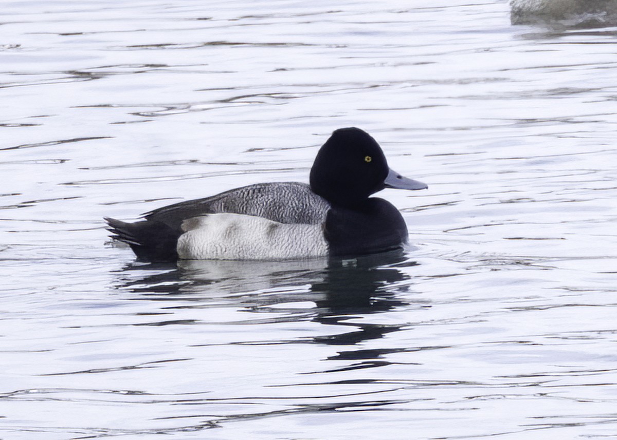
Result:
M164 206L144 214L179 229L184 219L203 214L234 213L258 216L281 223L319 224L325 221L330 205L300 182L248 185L211 197Z

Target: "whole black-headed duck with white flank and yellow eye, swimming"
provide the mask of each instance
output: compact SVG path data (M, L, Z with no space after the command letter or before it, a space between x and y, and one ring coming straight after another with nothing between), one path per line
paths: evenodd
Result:
M428 185L387 165L362 129L335 130L302 182L267 182L163 206L136 222L104 218L110 237L138 261L353 257L404 249L407 225L385 188Z

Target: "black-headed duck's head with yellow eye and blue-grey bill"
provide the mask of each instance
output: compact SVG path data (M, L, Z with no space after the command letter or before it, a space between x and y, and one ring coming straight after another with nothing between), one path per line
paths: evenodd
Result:
M381 147L359 128L333 132L321 147L310 170L310 186L335 205L354 207L386 187L425 189L388 168Z

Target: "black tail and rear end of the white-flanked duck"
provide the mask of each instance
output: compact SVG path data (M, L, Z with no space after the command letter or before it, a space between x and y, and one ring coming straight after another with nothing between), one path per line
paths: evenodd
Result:
M176 245L180 230L149 220L127 223L106 217L105 221L109 225L107 230L114 234L111 237L131 246L141 261L159 263L178 259Z

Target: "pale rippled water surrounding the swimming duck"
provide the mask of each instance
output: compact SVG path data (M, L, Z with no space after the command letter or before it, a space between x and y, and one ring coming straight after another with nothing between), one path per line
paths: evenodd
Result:
M2 2L0 438L617 438L617 28L505 1ZM307 181L413 248L136 263L103 216Z

